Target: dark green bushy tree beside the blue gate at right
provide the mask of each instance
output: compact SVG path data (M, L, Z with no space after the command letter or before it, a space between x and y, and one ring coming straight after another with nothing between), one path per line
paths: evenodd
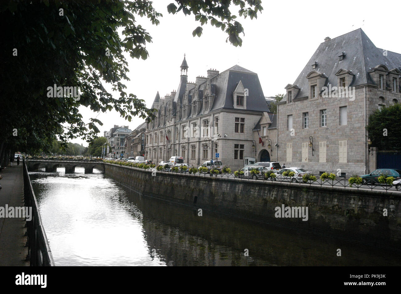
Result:
M401 149L401 104L377 109L367 126L373 147L380 150Z

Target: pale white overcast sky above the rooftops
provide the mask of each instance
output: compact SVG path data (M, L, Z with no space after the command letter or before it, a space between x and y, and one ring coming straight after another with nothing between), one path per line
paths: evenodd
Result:
M401 53L399 38L399 1L266 1L262 0L263 11L257 19L237 17L243 25L245 36L240 35L242 47L234 47L225 42L227 34L220 28L203 26L199 38L192 37L192 31L200 25L194 16L184 16L180 11L167 13L167 5L172 2L155 0L154 8L163 14L158 26L148 18L136 17L152 36L152 43L146 48L146 60L131 59L126 54L128 77L125 81L126 93L133 93L151 107L157 91L164 97L176 90L180 81L180 65L186 54L188 81L197 76L207 76L209 68L220 72L238 64L256 72L261 82L263 94L275 96L285 93L284 87L294 83L312 54L325 37L335 38L357 28L362 28L373 44L379 48ZM238 16L239 7L231 12ZM393 17L392 17L393 15ZM109 87L107 87L109 89ZM114 110L107 113L93 113L80 108L85 122L96 117L103 122L99 129L109 130L113 125L128 125L135 129L143 120L139 117L131 122L120 117ZM87 143L75 139L73 143Z

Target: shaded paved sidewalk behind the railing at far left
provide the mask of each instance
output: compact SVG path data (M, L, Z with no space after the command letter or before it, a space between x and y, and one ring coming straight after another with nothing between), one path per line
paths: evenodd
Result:
M0 191L0 207L24 206L24 180L22 173L22 161L17 166L3 169L0 173L2 189ZM26 232L25 219L0 218L0 266L29 266L25 261L28 247L25 247Z

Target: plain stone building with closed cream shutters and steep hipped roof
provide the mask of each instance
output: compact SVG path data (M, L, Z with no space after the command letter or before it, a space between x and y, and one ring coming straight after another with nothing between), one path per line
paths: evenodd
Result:
M278 161L315 173L374 170L369 115L400 101L400 77L401 54L377 48L363 30L325 38L277 103L269 135L278 137Z

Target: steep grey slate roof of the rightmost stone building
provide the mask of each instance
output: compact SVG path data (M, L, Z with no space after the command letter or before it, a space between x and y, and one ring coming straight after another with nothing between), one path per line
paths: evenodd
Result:
M344 52L343 60L338 56ZM309 94L309 83L306 76L312 70L323 73L328 77L327 84L338 86L335 75L340 69L349 70L354 74L350 87L364 85L366 83L376 84L369 72L379 64L387 66L389 70L397 68L401 70L401 54L377 48L362 29L358 28L352 32L338 36L326 42L322 42L316 52L312 55L293 85L300 88L298 95L294 98L306 97ZM317 62L316 69L312 64Z

